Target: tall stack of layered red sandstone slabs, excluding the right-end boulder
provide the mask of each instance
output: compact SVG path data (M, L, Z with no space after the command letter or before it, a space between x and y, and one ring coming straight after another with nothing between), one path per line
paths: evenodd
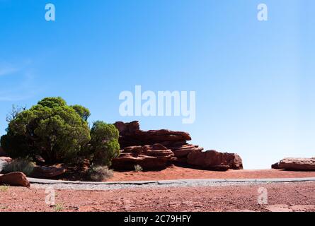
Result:
M142 131L139 122L115 123L120 132L121 154L113 159L114 169L134 169L141 165L143 169L162 169L175 162L187 163L192 152L201 152L203 148L190 145L189 133L167 129Z

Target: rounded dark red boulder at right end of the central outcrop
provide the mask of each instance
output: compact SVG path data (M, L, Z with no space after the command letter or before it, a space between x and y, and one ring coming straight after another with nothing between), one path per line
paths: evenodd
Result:
M243 169L242 160L239 155L234 153L219 153L215 150L189 153L188 164L202 169Z

